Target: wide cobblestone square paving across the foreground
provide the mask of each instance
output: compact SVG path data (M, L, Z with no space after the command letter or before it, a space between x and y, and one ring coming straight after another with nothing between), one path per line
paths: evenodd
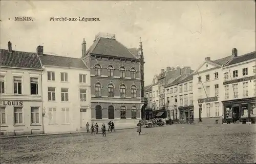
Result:
M1 140L1 163L249 163L255 125L170 125Z

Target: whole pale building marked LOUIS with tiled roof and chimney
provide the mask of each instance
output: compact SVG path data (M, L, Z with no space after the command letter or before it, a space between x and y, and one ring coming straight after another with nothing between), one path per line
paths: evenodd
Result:
M43 71L36 53L8 49L0 52L1 135L39 134L42 124Z

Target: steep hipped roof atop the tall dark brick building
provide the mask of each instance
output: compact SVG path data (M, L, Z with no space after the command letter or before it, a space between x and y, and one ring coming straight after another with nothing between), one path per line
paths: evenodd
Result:
M110 57L138 59L128 48L116 39L99 38L89 48L90 53L101 54Z

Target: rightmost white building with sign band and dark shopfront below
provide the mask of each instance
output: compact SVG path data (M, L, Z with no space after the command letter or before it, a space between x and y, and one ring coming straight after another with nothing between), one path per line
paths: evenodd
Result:
M254 123L256 119L256 53L238 56L233 49L234 58L222 69L223 78L223 117L224 123Z

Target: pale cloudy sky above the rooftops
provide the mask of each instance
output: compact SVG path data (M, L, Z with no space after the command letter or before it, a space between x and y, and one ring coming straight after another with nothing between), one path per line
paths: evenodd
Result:
M14 21L32 16L33 22ZM53 22L50 17L99 17L96 22ZM9 20L10 18L10 20ZM190 66L255 51L255 1L1 1L1 44L7 49L81 57L99 32L128 48L143 44L145 85L161 69Z

